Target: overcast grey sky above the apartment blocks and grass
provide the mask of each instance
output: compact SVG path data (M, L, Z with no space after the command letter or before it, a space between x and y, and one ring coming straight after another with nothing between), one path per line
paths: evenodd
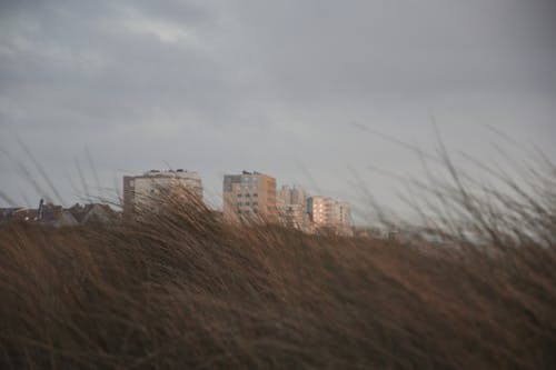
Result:
M41 170L66 204L79 169L95 192L91 161L106 188L198 170L216 206L242 169L389 202L398 184L374 169L418 174L396 140L434 151L431 116L455 153L490 159L500 131L556 158L556 4L0 0L0 190L17 203L56 200Z

